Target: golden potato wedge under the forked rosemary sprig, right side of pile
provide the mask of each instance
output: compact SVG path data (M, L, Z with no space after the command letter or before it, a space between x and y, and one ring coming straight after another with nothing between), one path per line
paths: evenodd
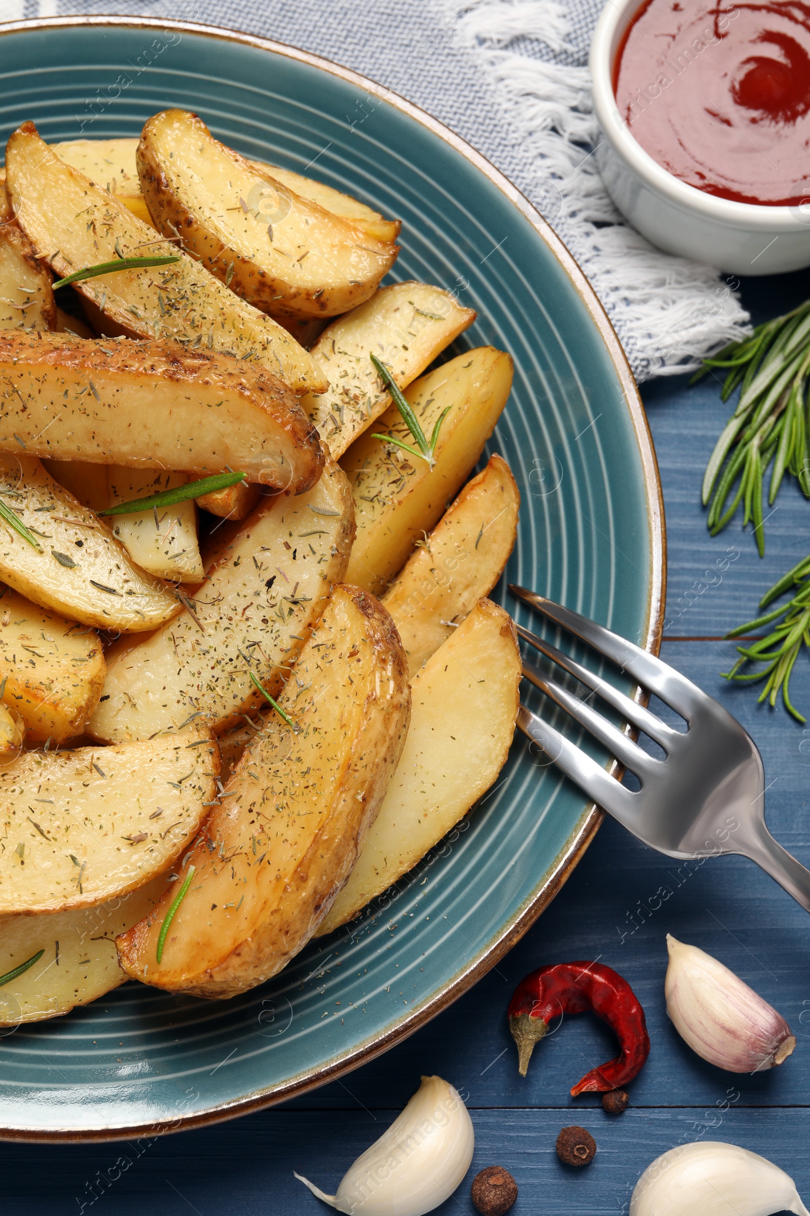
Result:
M478 347L407 389L404 395L427 435L451 406L432 471L426 461L370 433L355 440L340 462L352 484L357 514L347 581L375 595L386 590L415 541L437 523L478 460L506 404L511 378L509 355L494 347ZM413 435L396 406L383 415L375 432L413 446Z

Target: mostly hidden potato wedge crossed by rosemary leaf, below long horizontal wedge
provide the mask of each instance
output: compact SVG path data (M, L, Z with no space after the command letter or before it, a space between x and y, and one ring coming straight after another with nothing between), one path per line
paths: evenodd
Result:
M132 502L152 494L186 485L186 473L160 473L111 465L107 468L109 505ZM136 511L131 516L111 516L113 535L142 570L159 579L177 582L202 582L203 559L197 541L194 500L176 502L159 511Z

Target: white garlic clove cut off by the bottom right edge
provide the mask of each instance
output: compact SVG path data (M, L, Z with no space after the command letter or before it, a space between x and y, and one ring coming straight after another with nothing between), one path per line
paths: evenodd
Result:
M702 1141L669 1149L635 1184L630 1216L810 1216L791 1178L758 1153Z

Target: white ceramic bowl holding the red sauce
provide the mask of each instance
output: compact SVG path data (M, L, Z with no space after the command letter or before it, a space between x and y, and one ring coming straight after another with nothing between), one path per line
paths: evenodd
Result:
M630 224L667 253L736 275L810 266L810 198L800 207L755 207L715 198L673 176L636 143L613 94L616 52L640 0L606 4L590 44L594 111L602 130L596 162Z

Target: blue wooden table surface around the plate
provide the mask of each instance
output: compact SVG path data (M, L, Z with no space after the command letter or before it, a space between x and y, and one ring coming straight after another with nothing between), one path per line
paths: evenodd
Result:
M743 299L755 320L810 294L806 274L749 280ZM810 503L786 486L757 556L738 523L710 539L699 507L707 457L727 416L719 383L685 378L644 389L658 452L669 539L668 625L662 655L752 733L765 761L767 820L810 865L810 728L780 706L729 685L733 659L723 635L755 614L761 593L810 552ZM793 677L793 700L810 716L810 662ZM611 821L562 893L489 975L409 1041L342 1081L236 1122L137 1143L0 1144L5 1216L244 1216L327 1209L293 1170L334 1192L351 1161L383 1132L420 1074L452 1081L470 1109L476 1150L468 1180L440 1211L474 1212L470 1181L486 1165L516 1177L515 1216L625 1212L639 1173L678 1143L724 1139L770 1158L810 1201L810 919L742 858L678 863L644 848ZM664 1009L665 934L723 959L788 1019L793 1057L757 1076L704 1064L678 1037ZM647 1015L652 1051L631 1086L631 1109L604 1114L594 1096L568 1090L614 1054L608 1030L589 1017L567 1021L517 1074L506 1029L516 983L542 963L600 958L633 985ZM1 1047L0 1047L1 1049ZM571 1171L556 1158L560 1127L588 1127L594 1164Z

